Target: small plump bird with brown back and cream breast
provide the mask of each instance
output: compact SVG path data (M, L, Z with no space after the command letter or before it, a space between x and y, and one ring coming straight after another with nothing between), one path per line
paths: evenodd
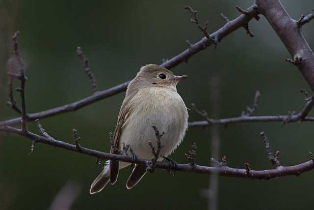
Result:
M187 108L177 92L177 84L187 77L176 76L157 64L142 66L128 85L113 133L114 146L122 150L123 145L130 145L137 157L153 158L149 141L157 146L154 125L163 133L158 161L176 150L183 141L188 120ZM118 154L118 151L111 147L110 153ZM102 191L109 181L114 184L119 170L129 165L131 163L107 160L104 170L92 182L90 194ZM134 187L145 174L146 166L135 164L127 180L127 188Z

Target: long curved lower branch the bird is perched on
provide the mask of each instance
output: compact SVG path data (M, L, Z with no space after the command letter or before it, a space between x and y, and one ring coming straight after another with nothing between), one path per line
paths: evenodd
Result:
M80 150L77 150L76 145L68 144L59 140L55 139L48 139L43 136L39 136L37 134L31 132L23 132L20 129L10 127L10 126L1 126L0 131L3 132L10 132L15 133L18 135L25 136L28 139L36 139L36 142L40 142L47 145L52 145L57 148L62 148L66 150L71 150L83 154L87 154L90 156L97 157L98 159L111 159L111 160L118 160L123 162L130 162L136 163L141 165L146 165L148 160L145 159L134 159L132 156L126 155L118 155L118 154L111 154L105 153L97 150L91 150L88 148L80 147ZM156 162L156 168L166 169L166 170L173 170L174 166L171 163L166 162ZM314 169L314 161L311 159L307 162L293 165L293 166L283 166L277 169L268 169L268 170L250 170L249 174L247 175L246 169L237 169L231 168L228 166L223 167L208 167L208 166L200 166L200 165L192 165L192 164L176 164L176 171L182 171L187 173L199 173L199 174L207 174L211 175L213 172L218 173L220 176L225 177L237 177L243 179L253 179L253 180L270 180L273 178L284 177L284 176L299 176L300 174L313 170Z

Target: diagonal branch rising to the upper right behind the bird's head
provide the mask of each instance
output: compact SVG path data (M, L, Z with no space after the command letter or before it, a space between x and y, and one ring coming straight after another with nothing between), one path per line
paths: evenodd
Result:
M247 24L250 20L252 20L256 15L257 11L253 8L254 6L249 7L246 11L248 12L246 15L241 14L239 17L236 19L229 21L226 23L222 28L219 30L213 32L212 34L209 34L211 37L213 37L217 41L221 41L225 36L229 35L233 31L237 30L238 28L243 27L245 24ZM190 49L186 49L179 55L173 57L172 59L169 59L165 61L164 63L161 64L161 66L171 69L181 62L184 62L185 60L188 60L190 57L195 55L196 53L206 49L212 44L211 40L207 39L206 37L203 37L200 41L196 42L193 44L193 51ZM42 119L42 118L47 118L47 117L52 117L54 115L58 115L61 113L66 113L66 112L71 112L71 111L76 111L80 108L83 108L87 105L90 105L92 103L95 103L97 101L100 101L102 99L105 99L107 97L110 97L112 95L118 94L122 91L125 91L129 85L130 81L127 81L125 83L122 83L120 85L117 85L115 87L112 87L107 90L95 92L95 94L88 96L86 98L83 98L79 101L70 103L70 104L65 104L63 106L59 106L53 109L45 110L42 112L37 112L33 114L29 114L29 118L27 118L27 121L33 121L36 119ZM12 125L16 124L21 121L21 118L15 118L11 120L4 120L0 121L0 126L1 125Z

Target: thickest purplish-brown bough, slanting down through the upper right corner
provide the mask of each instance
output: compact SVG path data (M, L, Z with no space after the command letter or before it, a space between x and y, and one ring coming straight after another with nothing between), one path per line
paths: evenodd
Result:
M258 12L268 20L293 60L296 57L302 59L296 66L314 91L314 54L304 39L297 21L288 15L279 0L256 0L256 4Z

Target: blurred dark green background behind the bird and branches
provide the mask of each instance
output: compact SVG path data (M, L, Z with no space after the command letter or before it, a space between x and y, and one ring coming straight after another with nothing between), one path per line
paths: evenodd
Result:
M90 81L76 55L81 46L90 61L100 90L132 79L140 66L161 63L186 49L203 34L190 22L184 5L198 11L199 20L209 21L209 32L225 24L219 13L230 19L239 15L235 6L247 8L253 0L0 0L0 120L17 117L5 105L7 100L7 61L11 52L11 35L19 30L20 50L26 63L26 103L29 113L43 111L77 101L92 94ZM313 8L313 0L282 0L288 13L298 19ZM302 30L309 45L314 46L314 23ZM255 34L236 30L218 44L172 69L189 79L178 85L187 106L196 103L209 116L236 117L251 106L256 90L261 98L256 115L281 115L303 108L304 95L310 91L298 69L285 61L288 51L264 17L249 24ZM213 113L210 100L211 78L218 77L219 113ZM16 83L17 84L17 83ZM218 90L219 89L219 90ZM106 98L73 113L41 120L53 137L72 143L76 128L84 147L109 151L108 133L113 131L125 93ZM16 94L19 102L19 97ZM217 110L217 109L215 109ZM203 120L189 112L189 120ZM311 115L311 113L310 113ZM273 150L280 151L283 165L309 160L314 151L313 122L232 124L220 127L220 156L228 165L244 168L250 162L254 170L272 168L259 136L264 131ZM32 132L39 133L34 122ZM197 163L209 165L211 129L195 127L187 131L183 144L171 155L185 163L184 153L197 143ZM157 170L148 174L131 190L125 187L130 169L121 171L115 185L107 185L91 196L89 187L103 166L87 155L36 144L20 136L0 134L0 209L43 210L62 192L77 195L72 209L207 209L203 196L209 176ZM229 209L308 209L313 204L314 172L300 177L269 181L219 178L218 207ZM69 192L68 185L75 192ZM71 185L72 184L72 185ZM73 187L74 186L74 187ZM71 188L71 187L70 187ZM62 191L63 190L63 191ZM53 208L52 208L53 209Z

